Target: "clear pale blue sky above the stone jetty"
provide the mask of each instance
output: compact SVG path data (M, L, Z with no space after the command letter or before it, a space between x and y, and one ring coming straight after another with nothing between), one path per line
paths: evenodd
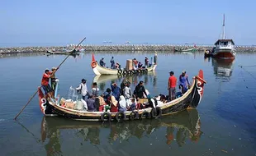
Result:
M255 0L1 0L0 47L214 44L222 32L256 44Z

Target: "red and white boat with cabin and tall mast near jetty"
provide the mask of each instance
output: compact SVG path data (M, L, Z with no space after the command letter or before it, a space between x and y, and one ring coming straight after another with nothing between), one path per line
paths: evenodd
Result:
M222 39L218 39L215 43L215 49L211 53L212 57L222 59L235 59L235 44L233 39L225 38L225 15L223 16L223 32Z

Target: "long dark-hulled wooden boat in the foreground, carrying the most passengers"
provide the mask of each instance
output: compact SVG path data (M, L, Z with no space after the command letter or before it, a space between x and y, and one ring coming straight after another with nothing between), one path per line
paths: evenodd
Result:
M181 112L187 108L197 108L197 105L201 102L205 83L206 81L203 80L203 71L200 70L198 76L193 77L191 88L180 98L164 103L163 105L157 105L156 108L144 108L133 112L88 112L65 108L59 103L59 96L56 93L58 90L57 87L55 90L56 101L54 100L54 102L45 99L45 95L39 87L39 105L41 112L45 115L57 114L61 117L80 121L120 121L160 117L162 115Z

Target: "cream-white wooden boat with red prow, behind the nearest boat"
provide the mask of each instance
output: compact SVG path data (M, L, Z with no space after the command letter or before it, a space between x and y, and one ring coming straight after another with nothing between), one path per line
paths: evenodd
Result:
M94 58L94 55L92 53L92 63L91 63L92 70L95 75L100 76L100 75L127 75L127 74L135 74L139 72L148 72L148 71L154 71L155 68L157 67L156 64L153 64L151 67L147 67L145 69L140 69L140 70L130 70L127 71L126 69L111 69L107 67L102 67L100 66L97 61Z

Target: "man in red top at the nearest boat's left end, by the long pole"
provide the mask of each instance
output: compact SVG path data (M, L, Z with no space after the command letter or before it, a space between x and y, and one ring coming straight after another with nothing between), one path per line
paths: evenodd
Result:
M41 80L42 88L45 90L46 98L48 99L54 98L53 90L50 88L50 85L49 85L50 74L51 74L51 71L48 68L46 68L45 73Z

